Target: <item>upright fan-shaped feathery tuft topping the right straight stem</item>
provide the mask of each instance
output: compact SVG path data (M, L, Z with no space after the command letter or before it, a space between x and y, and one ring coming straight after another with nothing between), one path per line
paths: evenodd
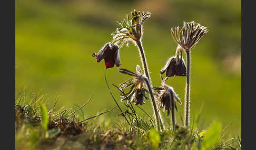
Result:
M206 33L208 29L194 22L184 22L183 27L171 29L173 39L185 50L190 50Z

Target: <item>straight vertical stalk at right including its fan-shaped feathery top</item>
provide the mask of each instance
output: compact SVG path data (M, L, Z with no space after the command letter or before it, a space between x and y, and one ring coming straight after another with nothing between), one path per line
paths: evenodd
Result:
M208 33L206 27L194 22L184 22L183 27L175 27L171 29L173 39L186 52L186 89L185 89L185 104L184 104L184 122L189 129L190 126L190 50L198 43L198 41Z

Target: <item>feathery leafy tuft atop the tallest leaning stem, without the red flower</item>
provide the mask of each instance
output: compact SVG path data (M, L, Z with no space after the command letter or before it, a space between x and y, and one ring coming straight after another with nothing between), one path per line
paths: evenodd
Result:
M137 12L135 9L131 12L131 19L127 15L126 19L122 20L119 23L119 28L116 28L115 32L111 35L113 39L112 44L120 44L122 47L125 42L129 44L130 40L138 41L143 35L143 23L150 17L150 12Z

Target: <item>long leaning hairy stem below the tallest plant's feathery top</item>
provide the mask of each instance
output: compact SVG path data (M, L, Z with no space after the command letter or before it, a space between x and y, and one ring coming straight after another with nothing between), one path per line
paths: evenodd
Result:
M160 121L161 120L159 118L159 113L157 112L157 109L156 109L154 94L153 94L153 91L152 91L152 85L151 85L151 80L150 80L150 75L149 75L149 69L147 67L144 50L143 50L143 47L141 45L141 41L140 40L137 40L136 44L137 44L137 47L139 48L143 69L144 69L144 72L145 72L146 77L147 77L147 80L146 80L147 82L146 83L147 83L147 87L149 88L149 92L150 92L150 95L151 95L153 110L154 110L154 114L155 114L154 116L155 116L156 126L157 126L157 129L160 130ZM161 125L161 128L163 128L162 125Z

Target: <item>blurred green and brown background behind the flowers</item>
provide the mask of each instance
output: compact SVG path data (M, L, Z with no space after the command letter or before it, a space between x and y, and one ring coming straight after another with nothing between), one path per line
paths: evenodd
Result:
M83 108L85 117L113 108L115 103L104 80L104 60L97 63L92 53L112 39L116 21L134 8L152 13L144 23L142 41L154 86L160 85L160 69L177 46L170 29L192 20L208 27L209 33L191 52L191 119L203 105L201 130L214 119L223 127L235 120L227 132L240 134L240 1L16 1L16 95L22 87L32 93L47 93L47 107L51 108L60 94L57 108L76 109L75 104L83 105L94 91L92 101ZM124 46L120 55L122 68L135 71L136 65L141 65L133 44ZM116 85L130 78L117 67L107 69L106 76L109 84ZM169 78L167 83L183 102L185 78ZM111 90L120 100L119 91L113 86ZM152 114L150 101L143 108ZM183 116L183 105L178 109ZM115 109L95 121L105 125L123 121L117 113ZM180 114L177 117L180 123Z

